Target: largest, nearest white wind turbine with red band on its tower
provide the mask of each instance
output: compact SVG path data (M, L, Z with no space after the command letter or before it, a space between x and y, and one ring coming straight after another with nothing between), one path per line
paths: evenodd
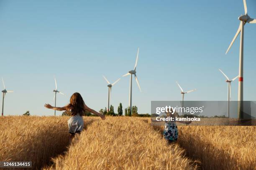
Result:
M239 75L238 75L238 119L243 119L243 27L246 23L255 24L256 19L250 18L247 14L247 5L246 0L243 0L243 7L245 15L241 15L238 17L238 20L240 20L240 25L238 27L238 30L236 32L235 37L231 41L228 50L226 51L226 54L228 53L230 47L233 45L233 42L236 40L237 36L241 32L240 35L240 52L239 52Z

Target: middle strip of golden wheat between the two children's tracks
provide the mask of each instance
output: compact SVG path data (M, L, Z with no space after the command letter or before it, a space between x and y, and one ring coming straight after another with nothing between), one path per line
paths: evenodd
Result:
M195 169L178 145L136 117L108 117L77 135L49 169Z

